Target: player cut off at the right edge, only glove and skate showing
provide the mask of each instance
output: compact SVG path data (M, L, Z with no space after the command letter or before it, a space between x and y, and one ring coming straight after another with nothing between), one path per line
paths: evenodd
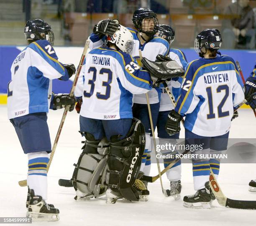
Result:
M247 100L246 104L249 104L252 109L256 108L256 64L251 73L251 76L246 79L244 85L244 95ZM256 191L256 180L251 180L249 183L249 191Z

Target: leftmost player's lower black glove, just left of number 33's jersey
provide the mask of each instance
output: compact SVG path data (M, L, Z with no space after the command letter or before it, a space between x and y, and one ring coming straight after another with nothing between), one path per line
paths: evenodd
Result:
M69 112L72 112L74 110L74 106L76 103L76 98L74 96L69 97L69 94L56 94L54 95L54 107L56 109L61 109L64 106L69 106Z

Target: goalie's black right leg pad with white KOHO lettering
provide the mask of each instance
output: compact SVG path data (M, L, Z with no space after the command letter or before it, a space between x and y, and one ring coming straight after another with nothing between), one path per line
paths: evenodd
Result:
M133 188L133 184L141 167L144 149L145 129L141 121L135 118L125 139L112 139L110 142L108 186L130 201L139 200L138 191Z

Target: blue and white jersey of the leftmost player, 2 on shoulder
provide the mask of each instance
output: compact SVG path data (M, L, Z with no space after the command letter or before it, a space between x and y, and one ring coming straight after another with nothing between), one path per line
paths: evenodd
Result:
M29 44L13 61L8 83L8 119L36 112L48 112L52 79L69 79L46 40Z

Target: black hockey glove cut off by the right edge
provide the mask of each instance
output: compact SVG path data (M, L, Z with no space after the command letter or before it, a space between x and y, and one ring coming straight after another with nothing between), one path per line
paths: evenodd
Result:
M243 87L244 96L252 109L256 108L256 77L248 77Z

